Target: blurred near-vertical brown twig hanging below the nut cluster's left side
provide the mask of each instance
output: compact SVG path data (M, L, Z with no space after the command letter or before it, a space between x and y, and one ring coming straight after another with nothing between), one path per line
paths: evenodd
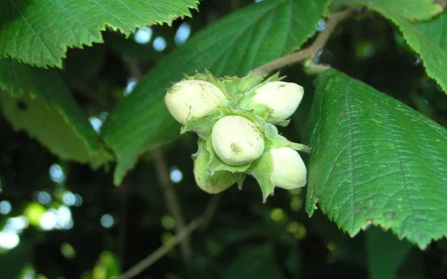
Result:
M166 160L164 158L163 151L161 151L161 147L156 147L154 149L154 161L156 175L159 179L159 185L161 186L161 190L163 190L163 195L166 199L168 210L175 220L175 230L179 233L184 228L184 218L182 211L180 210L177 195L175 194L175 188L173 183L170 182L168 165L166 165ZM184 236L184 239L182 239L180 249L182 250L184 262L186 266L188 266L187 264L191 258L191 243L189 242L188 236Z

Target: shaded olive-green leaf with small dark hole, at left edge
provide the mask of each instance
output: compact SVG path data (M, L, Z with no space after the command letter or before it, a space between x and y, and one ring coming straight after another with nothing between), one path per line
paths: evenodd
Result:
M15 130L52 153L98 167L111 159L59 75L12 59L0 60L0 106Z

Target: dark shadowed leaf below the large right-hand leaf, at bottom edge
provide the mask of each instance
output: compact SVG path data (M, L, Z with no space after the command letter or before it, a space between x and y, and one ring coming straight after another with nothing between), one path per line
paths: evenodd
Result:
M372 227L366 232L366 248L369 278L394 279L411 244L397 239L391 232Z

